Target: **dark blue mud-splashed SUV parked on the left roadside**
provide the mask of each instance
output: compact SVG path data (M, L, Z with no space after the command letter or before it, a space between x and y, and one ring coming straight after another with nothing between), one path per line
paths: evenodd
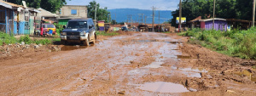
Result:
M82 42L84 46L95 44L96 28L93 20L88 19L73 19L68 20L67 27L61 31L61 43L67 42Z

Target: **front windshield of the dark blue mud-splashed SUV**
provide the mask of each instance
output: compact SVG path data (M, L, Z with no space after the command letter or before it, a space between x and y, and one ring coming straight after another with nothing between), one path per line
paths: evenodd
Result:
M67 24L68 29L76 29L76 28L87 28L86 21L69 21Z

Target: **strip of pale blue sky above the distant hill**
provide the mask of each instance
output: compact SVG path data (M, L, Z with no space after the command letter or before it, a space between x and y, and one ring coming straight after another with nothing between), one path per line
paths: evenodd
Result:
M66 0L67 5L88 5L93 0ZM139 2L138 2L139 1ZM179 0L96 0L101 7L175 10Z

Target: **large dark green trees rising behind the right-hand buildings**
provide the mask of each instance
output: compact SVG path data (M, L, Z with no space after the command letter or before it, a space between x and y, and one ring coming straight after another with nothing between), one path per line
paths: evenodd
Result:
M249 4L248 4L249 3ZM252 20L253 0L216 0L215 15L223 19ZM183 0L183 17L187 21L194 20L201 16L202 19L212 18L213 0ZM179 9L172 11L172 25L176 25L176 17L179 15Z

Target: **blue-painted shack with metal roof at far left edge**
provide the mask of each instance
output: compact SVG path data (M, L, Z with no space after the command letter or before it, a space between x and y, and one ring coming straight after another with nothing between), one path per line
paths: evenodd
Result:
M36 8L0 0L0 31L14 35L32 35L36 30L34 24L38 21L36 17L39 12Z

